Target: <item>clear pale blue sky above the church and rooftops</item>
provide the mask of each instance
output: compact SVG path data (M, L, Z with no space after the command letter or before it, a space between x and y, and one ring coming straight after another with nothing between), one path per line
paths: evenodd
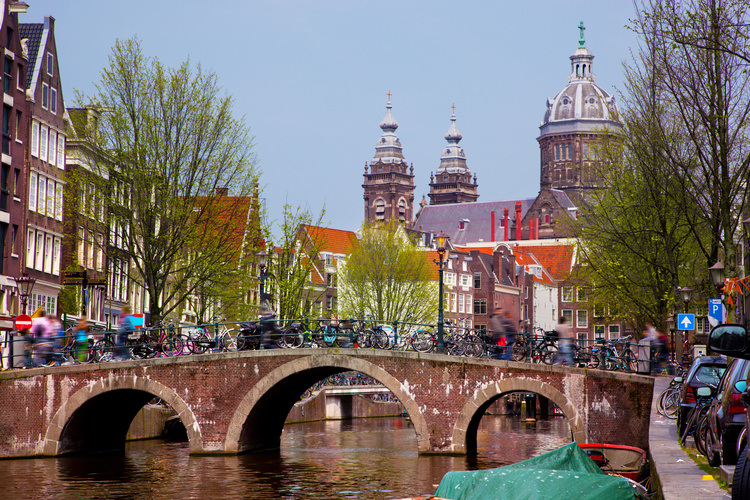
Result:
M630 0L25 0L21 22L55 18L66 104L93 94L117 39L146 55L214 71L254 135L267 213L285 203L356 230L365 163L392 93L415 206L450 127L463 135L479 201L535 197L547 98L567 84L578 23L596 82L621 101L637 38ZM415 210L416 212L416 210Z

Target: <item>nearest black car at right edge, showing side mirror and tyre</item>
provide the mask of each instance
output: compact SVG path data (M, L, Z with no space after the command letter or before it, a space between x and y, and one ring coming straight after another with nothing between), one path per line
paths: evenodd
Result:
M750 359L750 338L744 326L719 325L708 336L708 347L714 352L740 359ZM740 400L745 405L745 428L750 422L750 394L745 390ZM732 498L750 498L750 446L745 446L737 457L737 466L732 478Z

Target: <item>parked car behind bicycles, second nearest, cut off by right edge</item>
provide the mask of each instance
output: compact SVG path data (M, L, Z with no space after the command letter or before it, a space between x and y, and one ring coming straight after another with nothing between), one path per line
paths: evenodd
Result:
M750 360L733 359L717 389L717 396L708 410L706 455L708 463L714 467L734 465L739 451L744 446L739 440L745 428L745 405L742 393L747 386Z

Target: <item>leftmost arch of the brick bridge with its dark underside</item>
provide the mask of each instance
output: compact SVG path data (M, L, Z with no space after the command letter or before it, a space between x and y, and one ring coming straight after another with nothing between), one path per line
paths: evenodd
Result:
M146 377L110 374L79 389L60 406L47 427L44 454L54 456L124 446L133 418L154 397L179 415L187 430L190 452L203 450L198 421L174 390Z

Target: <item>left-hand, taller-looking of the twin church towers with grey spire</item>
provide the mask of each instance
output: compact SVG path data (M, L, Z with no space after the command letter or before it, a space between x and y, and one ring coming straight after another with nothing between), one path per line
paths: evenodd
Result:
M385 118L380 123L383 135L375 146L375 157L365 163L365 220L397 220L411 224L414 217L414 167L408 167L396 137L398 123L391 115L388 92ZM407 171L408 169L408 171Z

